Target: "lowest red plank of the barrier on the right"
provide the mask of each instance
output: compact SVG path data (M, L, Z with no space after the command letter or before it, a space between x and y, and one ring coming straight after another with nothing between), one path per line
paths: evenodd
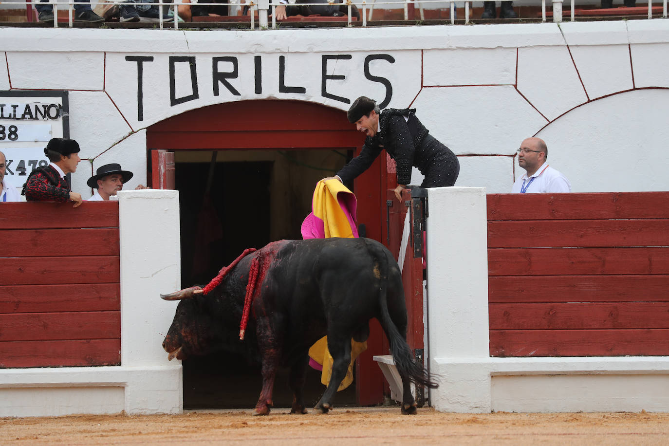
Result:
M490 330L490 356L669 356L669 330Z

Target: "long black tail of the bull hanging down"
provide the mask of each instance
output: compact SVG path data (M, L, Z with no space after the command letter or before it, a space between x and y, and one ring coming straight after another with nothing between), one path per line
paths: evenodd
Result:
M390 269L389 265L387 265L387 257L385 255L381 255L380 257L379 261L385 263L385 265L381 265L381 271L389 273ZM393 322L393 319L390 316L387 300L387 283L387 280L381 280L381 292L379 296L381 299L381 318L383 319L382 322L388 335L390 353L393 355L397 371L399 371L401 376L408 376L409 380L416 384L429 388L438 388L439 384L430 379L427 371L413 360L411 357L411 348L409 348L405 336L402 336L399 333L397 325L395 325L395 322Z

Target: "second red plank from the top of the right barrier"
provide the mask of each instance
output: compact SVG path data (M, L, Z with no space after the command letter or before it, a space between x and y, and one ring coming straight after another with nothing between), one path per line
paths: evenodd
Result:
M488 222L488 247L669 246L669 219Z

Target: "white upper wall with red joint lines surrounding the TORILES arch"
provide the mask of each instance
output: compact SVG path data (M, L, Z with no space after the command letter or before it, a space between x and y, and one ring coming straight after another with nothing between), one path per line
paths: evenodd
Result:
M365 77L365 58L378 54L394 60L368 67L391 84L389 106L417 108L434 136L456 154L472 155L461 158L460 186L510 191L522 174L514 150L536 135L574 192L669 189L669 177L658 171L669 162L662 150L669 137L666 20L206 32L5 28L0 43L11 48L0 64L0 88L70 91L71 136L88 160L73 184L85 197L92 193L86 179L106 162L135 173L126 189L145 184L145 128L187 110L267 98L349 108L327 95L380 102L386 87ZM329 60L323 71L328 55L344 58ZM141 119L138 63L126 60L136 56L153 57L142 63ZM175 56L194 58L199 97L172 105ZM214 57L236 58L238 76L229 83L239 96L222 84L214 95ZM304 93L279 91L281 57L284 84ZM175 98L193 94L189 62L173 65ZM219 62L217 70L232 67ZM323 76L345 78L326 79L324 96ZM584 153L595 159L584 162ZM420 181L415 175L412 183Z

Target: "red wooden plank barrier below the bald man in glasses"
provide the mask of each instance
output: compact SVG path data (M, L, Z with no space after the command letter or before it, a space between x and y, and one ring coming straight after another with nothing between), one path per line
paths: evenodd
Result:
M668 201L488 195L490 356L668 355Z

